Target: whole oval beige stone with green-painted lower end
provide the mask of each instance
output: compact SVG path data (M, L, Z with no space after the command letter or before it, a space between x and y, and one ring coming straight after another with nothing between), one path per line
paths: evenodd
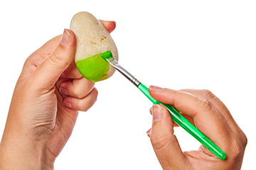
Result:
M75 64L83 77L90 81L101 81L114 74L114 68L102 59L102 52L111 51L118 60L117 47L107 29L91 13L80 12L70 23L77 40Z

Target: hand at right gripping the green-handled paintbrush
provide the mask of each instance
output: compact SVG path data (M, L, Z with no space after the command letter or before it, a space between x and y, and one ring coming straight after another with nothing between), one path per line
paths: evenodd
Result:
M157 86L150 86L149 93L157 101L175 106L227 154L220 160L203 145L198 151L182 152L174 135L176 123L164 106L154 105L152 128L147 133L163 169L241 169L247 137L219 98L208 90L175 91Z

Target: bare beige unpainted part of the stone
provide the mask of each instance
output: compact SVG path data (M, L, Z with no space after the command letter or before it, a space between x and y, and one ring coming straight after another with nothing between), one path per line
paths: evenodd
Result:
M114 59L118 60L117 47L110 33L91 13L75 14L70 23L70 29L73 30L77 39L75 62L107 51L111 51ZM110 66L107 78L113 73L114 68Z

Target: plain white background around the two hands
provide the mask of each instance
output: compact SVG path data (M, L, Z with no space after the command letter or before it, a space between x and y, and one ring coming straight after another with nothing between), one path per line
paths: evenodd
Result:
M0 134L26 57L69 28L79 11L113 20L119 62L146 86L209 89L248 138L242 169L255 162L255 1L1 1ZM151 103L116 72L95 85L55 169L161 169L146 131ZM214 128L214 127L213 127ZM199 143L181 128L183 150Z

